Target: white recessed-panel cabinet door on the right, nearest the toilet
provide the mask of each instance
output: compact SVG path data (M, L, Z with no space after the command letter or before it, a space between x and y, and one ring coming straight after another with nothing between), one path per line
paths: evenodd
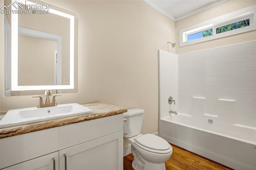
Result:
M60 170L122 170L123 131L60 150L59 153Z

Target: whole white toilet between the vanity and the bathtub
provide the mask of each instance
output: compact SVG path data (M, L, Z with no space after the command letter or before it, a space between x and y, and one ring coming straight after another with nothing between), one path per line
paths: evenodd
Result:
M124 138L132 144L134 170L165 170L164 162L172 155L172 146L154 134L141 134L143 109L124 113Z

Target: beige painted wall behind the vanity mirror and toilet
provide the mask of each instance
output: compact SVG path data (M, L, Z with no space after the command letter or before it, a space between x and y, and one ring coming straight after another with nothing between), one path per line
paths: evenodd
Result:
M99 100L145 109L142 132L158 132L158 49L175 41L175 22L141 0L52 3L79 13L78 93L62 94L57 103ZM31 96L2 97L0 41L0 111L36 107Z

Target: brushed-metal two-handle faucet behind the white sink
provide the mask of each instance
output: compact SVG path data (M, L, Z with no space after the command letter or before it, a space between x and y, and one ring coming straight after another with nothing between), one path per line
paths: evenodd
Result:
M46 99L45 99L44 103L43 103L42 96L32 96L32 98L39 97L39 103L38 103L38 106L37 106L38 108L57 106L55 97L56 96L61 96L61 94L52 95L51 90L45 90L44 94L46 95ZM51 95L52 95L52 103L50 103L50 96Z

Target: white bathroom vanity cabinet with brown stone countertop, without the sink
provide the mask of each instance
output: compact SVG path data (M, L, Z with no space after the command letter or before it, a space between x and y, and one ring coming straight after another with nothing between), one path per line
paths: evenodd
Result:
M0 128L0 169L122 169L127 109L104 102L81 105L92 113Z

